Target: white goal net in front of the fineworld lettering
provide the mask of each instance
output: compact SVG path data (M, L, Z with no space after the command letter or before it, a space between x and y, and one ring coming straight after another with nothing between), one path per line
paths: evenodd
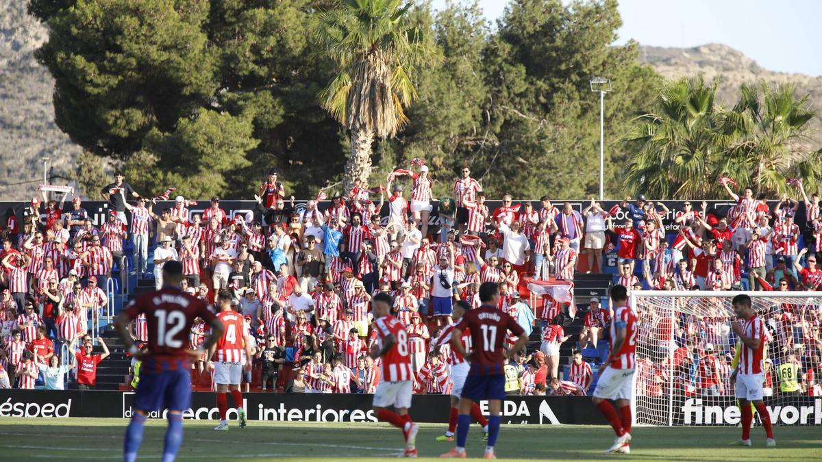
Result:
M635 291L635 413L638 425L736 425L730 380L737 335L731 300L740 292ZM822 406L808 396L806 366L818 357L820 292L748 292L767 327L764 402L775 425L819 424ZM803 364L804 362L807 362ZM796 366L791 366L793 363ZM784 365L784 367L782 367ZM811 372L811 378L812 377ZM818 380L818 377L816 377ZM800 391L780 390L800 386Z

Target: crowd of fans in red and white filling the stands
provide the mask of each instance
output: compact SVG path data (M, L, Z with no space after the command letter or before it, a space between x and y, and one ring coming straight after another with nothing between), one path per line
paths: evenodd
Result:
M614 282L631 290L801 291L822 284L822 270L815 266L822 239L819 196L807 197L801 182L797 189L804 204L785 195L770 207L750 188L737 196L723 180L736 206L720 213L704 202L697 207L685 201L673 217L678 232L667 235L663 217L671 210L644 196L627 197L609 210L591 200L577 211L568 202L555 206L547 196L536 208L530 201L514 204L506 195L490 210L468 167L460 170L452 195L438 200L435 213L432 177L418 159L391 173L386 187L355 186L331 197L328 206L324 195L295 206L272 169L254 196L256 218L230 216L216 196L202 213L192 213L182 196L158 210L156 200L135 192L124 179L117 173L104 188L110 211L99 227L76 196L66 206L67 196L58 203L43 195L24 213L7 214L0 254L6 288L0 297L0 386L7 377L7 386L33 388L39 377L47 387L62 387L55 377L69 366L64 359L76 367L78 384L94 386L84 371L93 371L108 350L94 354L90 341L99 335L95 320L108 303L112 269L127 277L124 239L133 244L132 275L154 278L157 288L164 263L180 261L186 276L182 289L210 303L215 293L229 291L256 339L257 372L247 377L249 385L289 392L374 390L379 368L367 351L376 340L370 314L376 293L394 297L393 314L407 326L419 393L448 392L450 352L432 345L454 321L452 304L461 299L478 306L479 284L492 281L501 286L500 308L527 332L539 329L542 340L538 349L510 358L506 392L584 395L595 379L584 351L607 340L608 308L594 298L580 313L584 328L565 373L560 347L572 341L564 326L573 315L557 303L543 303L534 313L537 307L522 297L528 293L526 280L573 281L580 267L602 271L603 254L616 252ZM807 229L794 223L801 211ZM621 216L626 219L620 222ZM150 243L156 245L151 253ZM673 369L683 378L668 380L666 359L643 358L644 394L727 394L727 357L734 345L712 341L724 321L683 316L672 326ZM802 379L797 386L811 395L820 395L820 321L817 306L769 318L772 349L782 349L772 355L780 361L771 361L774 371L782 358L796 363ZM136 340L146 340L145 318L132 329ZM192 329L192 348L204 337L201 322ZM728 348L720 351L713 344ZM62 345L70 357L58 354ZM208 358L196 362L196 377L209 377L209 365ZM139 372L134 372L136 383ZM669 383L679 385L672 390ZM774 386L779 383L774 379Z

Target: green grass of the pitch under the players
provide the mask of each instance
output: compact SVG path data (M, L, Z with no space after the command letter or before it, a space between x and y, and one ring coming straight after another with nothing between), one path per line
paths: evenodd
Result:
M122 460L121 418L2 418L0 460ZM399 431L382 423L249 422L229 432L215 432L214 422L187 421L178 460L339 460L395 458L401 453ZM426 423L417 437L420 457L435 458L453 443L436 442L444 427ZM141 460L158 460L164 421L146 424ZM734 427L640 427L632 432L630 455L605 455L613 432L609 427L505 425L497 455L510 460L820 460L820 427L777 427L776 448L764 447L764 432L755 427L754 447L729 447L739 437ZM483 454L482 432L474 425L468 454Z

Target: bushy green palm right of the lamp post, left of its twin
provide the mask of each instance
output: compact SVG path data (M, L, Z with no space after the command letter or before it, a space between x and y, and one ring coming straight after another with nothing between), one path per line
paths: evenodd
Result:
M653 109L635 118L625 136L633 150L626 168L630 192L653 197L708 197L716 155L718 81L702 76L668 81ZM715 177L714 177L715 178Z

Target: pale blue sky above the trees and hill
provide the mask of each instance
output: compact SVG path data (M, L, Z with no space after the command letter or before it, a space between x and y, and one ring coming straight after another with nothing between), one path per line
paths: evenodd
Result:
M446 0L433 2L441 7ZM506 6L478 2L490 21ZM822 76L822 0L621 0L619 11L617 44L726 44L769 71Z

